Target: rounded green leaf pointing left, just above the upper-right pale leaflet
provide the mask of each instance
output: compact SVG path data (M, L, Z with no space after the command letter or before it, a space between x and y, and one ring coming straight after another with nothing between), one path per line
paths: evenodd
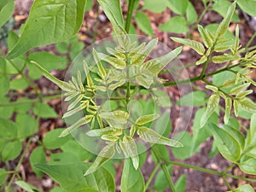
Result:
M174 16L166 23L159 26L162 32L183 33L188 31L187 21L183 16Z

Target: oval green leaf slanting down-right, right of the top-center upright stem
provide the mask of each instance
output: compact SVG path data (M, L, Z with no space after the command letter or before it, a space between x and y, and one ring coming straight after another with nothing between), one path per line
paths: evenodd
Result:
M154 31L151 26L151 22L148 19L148 15L144 14L143 12L137 12L134 16L137 26L147 35L154 37Z

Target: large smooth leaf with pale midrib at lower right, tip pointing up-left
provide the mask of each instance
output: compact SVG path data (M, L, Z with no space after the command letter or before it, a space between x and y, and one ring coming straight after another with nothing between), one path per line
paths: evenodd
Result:
M231 162L237 162L241 157L241 146L238 141L232 137L229 132L219 128L215 124L210 124L209 131L212 132L214 142L216 143L220 154Z

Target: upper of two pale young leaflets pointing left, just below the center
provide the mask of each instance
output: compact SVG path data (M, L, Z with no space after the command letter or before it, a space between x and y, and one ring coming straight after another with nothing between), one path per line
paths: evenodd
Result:
M102 119L113 119L119 121L120 124L125 124L129 117L129 113L125 111L113 111L113 112L104 112L100 113Z

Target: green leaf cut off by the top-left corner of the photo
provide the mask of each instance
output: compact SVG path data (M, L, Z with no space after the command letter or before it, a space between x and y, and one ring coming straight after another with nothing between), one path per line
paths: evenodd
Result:
M3 0L0 3L0 27L4 25L6 21L13 15L15 10L15 1Z

